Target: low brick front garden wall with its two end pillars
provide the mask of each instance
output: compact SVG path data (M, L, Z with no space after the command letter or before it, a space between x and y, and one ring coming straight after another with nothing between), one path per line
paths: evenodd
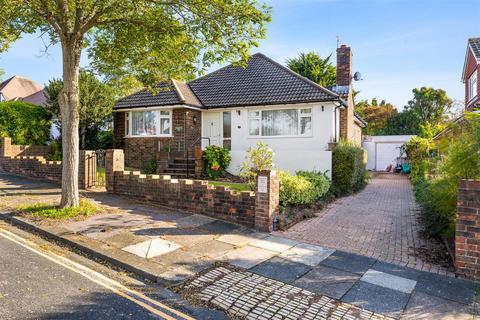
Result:
M235 193L204 180L172 179L124 171L123 150L106 151L107 191L171 208L272 231L279 208L279 183L274 171L259 173L257 191Z

